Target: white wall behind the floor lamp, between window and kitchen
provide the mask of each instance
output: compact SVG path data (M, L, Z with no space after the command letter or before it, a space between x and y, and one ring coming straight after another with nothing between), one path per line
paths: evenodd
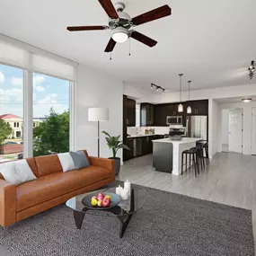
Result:
M77 68L76 82L75 147L86 149L88 154L97 156L97 122L88 121L88 108L109 108L110 120L101 122L101 130L108 131L111 136L122 135L123 83L115 76L82 65ZM111 156L103 134L101 134L101 156Z

